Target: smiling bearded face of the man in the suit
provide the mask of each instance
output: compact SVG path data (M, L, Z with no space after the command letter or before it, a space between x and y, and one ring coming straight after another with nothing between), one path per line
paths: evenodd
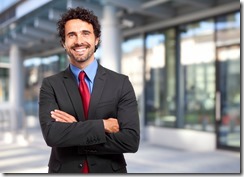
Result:
M95 45L98 38L95 37L93 26L80 19L72 19L65 24L64 48L74 65L90 63L94 59Z

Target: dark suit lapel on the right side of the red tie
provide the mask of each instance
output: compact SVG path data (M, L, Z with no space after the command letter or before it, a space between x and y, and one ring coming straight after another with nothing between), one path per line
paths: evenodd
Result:
M90 99L88 120L96 118L95 117L96 105L100 101L105 82L106 82L106 72L104 68L98 64L97 74L94 79L94 85L93 85L91 99Z

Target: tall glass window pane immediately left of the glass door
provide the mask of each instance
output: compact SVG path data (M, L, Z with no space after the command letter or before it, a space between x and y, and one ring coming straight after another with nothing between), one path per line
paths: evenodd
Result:
M184 127L214 131L215 42L212 19L181 26Z

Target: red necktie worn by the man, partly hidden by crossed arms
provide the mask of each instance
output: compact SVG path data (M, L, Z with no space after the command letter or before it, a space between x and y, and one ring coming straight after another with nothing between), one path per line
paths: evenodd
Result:
M79 79L80 79L80 84L79 84L79 90L81 94L81 99L83 103L83 109L85 113L85 118L88 118L88 108L89 108L89 103L90 103L90 92L88 89L88 86L85 82L85 75L86 73L84 71L81 71L79 74ZM87 161L84 161L84 164L82 165L83 168L81 170L81 173L89 173L89 168Z

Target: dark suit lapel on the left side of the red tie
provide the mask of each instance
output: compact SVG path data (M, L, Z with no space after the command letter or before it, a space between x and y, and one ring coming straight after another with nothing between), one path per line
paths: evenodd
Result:
M64 86L69 94L70 100L73 104L75 109L77 118L80 121L85 120L83 104L81 101L81 96L79 93L79 89L73 76L72 72L70 71L69 67L64 71Z

